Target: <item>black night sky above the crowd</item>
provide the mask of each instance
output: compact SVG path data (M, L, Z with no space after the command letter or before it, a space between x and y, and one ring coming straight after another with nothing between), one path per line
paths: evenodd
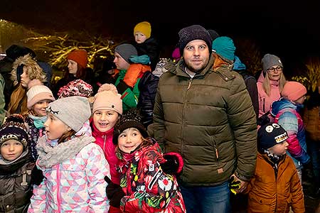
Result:
M133 38L133 28L149 21L164 47L174 46L178 31L191 24L231 38L250 38L262 49L292 63L320 55L320 1L97 1L1 0L0 18L53 31L90 31L114 38ZM168 56L168 55L164 55Z

